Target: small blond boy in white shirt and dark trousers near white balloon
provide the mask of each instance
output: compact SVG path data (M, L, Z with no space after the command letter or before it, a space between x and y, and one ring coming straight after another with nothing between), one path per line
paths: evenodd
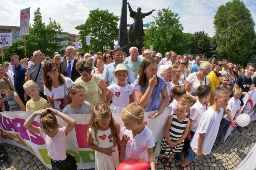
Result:
M237 118L237 114L240 110L240 103L241 101L239 100L241 95L242 95L242 89L237 87L234 89L233 91L233 97L228 101L228 114L226 114L222 120L221 120L221 124L219 126L219 131L218 131L218 135L216 138L216 142L220 141L221 143L224 143L224 139L222 134L228 129L228 127L230 126L230 124L236 128L236 122L233 121L234 118Z

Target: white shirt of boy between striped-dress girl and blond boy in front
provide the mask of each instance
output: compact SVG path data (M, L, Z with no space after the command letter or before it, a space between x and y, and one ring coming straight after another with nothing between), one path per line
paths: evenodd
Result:
M197 102L190 108L190 116L191 120L194 120L191 125L191 131L196 132L197 127L200 123L200 120L203 116L203 113L206 111L206 105L202 105L198 100Z

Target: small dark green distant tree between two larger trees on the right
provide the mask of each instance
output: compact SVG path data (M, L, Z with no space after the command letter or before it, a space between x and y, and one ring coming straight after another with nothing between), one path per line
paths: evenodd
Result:
M211 39L204 31L195 32L194 36L189 34L189 52L211 57Z

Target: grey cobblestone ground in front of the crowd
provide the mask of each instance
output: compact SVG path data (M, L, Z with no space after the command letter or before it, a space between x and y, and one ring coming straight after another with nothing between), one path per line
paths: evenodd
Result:
M241 133L235 129L232 133L234 135L233 138L229 137L224 144L221 144L217 150L213 149L209 155L203 154L198 157L195 162L190 164L191 167L195 170L235 169L251 151L256 141L256 123L250 124L248 128L248 130L242 128L243 131ZM8 159L0 165L2 170L48 170L37 157L31 155L28 151L7 144L3 144L3 147L8 152ZM160 158L162 156L159 155ZM184 160L183 153L181 156L181 160ZM180 162L175 162L173 159L170 169L181 169L179 164ZM157 169L164 170L163 164L158 164Z

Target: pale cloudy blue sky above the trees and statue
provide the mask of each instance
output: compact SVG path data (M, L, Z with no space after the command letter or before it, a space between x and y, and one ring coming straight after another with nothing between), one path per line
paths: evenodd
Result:
M154 21L153 15L157 15L157 10L169 7L174 13L180 16L183 24L183 32L194 33L204 31L210 37L213 36L214 15L218 7L231 0L127 0L134 11L138 7L142 12L149 12L153 8L156 11L152 15L143 19L143 23ZM243 0L245 6L251 11L254 22L256 22L256 1ZM48 18L56 20L64 28L64 31L78 34L74 28L83 24L90 10L99 8L108 9L115 15L120 16L122 0L1 0L0 5L0 25L19 26L20 10L31 7L30 23L33 22L33 11L37 7L41 8L43 22L49 23ZM128 11L128 8L127 8ZM133 19L128 16L128 24L133 23ZM119 23L119 22L118 22Z

